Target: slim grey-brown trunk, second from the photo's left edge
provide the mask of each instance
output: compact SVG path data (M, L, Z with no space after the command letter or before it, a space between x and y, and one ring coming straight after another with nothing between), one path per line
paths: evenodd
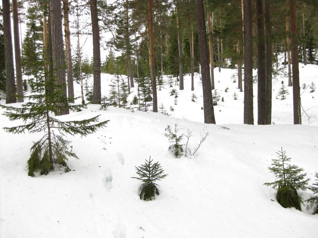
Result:
M22 83L22 68L21 68L21 48L19 34L19 14L17 0L12 0L13 10L13 34L14 34L14 53L16 59L16 74L17 74L17 98L18 102L23 102L23 83Z

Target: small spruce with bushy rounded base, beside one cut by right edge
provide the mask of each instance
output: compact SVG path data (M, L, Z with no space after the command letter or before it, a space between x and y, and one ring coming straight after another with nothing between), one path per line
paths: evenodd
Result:
M275 182L265 183L266 186L272 186L276 191L276 199L281 206L295 207L301 210L302 198L298 195L297 190L306 190L308 181L305 179L307 173L296 165L287 164L291 158L286 156L286 150L276 152L278 159L272 159L272 167L268 167L269 171L275 175Z

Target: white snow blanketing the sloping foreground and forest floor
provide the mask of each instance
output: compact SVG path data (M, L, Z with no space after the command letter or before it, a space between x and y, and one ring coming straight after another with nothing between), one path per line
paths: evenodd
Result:
M313 209L307 204L302 211L283 208L276 201L275 190L263 184L274 181L267 167L280 147L292 158L292 164L308 173L312 178L309 183L313 182L318 172L318 120L312 117L308 125L304 114L303 125L292 124L292 88L287 88L290 94L286 100L275 99L280 81L287 82L278 78L273 83L275 124L242 124L244 93L232 83L235 72L214 71L216 88L225 99L214 107L216 125L202 123L199 75L194 91L198 99L192 102L188 74L183 91L175 86L178 105L169 96L171 88L158 91L158 105L163 103L171 116L115 107L101 111L98 105L60 116L61 120L80 120L100 115L100 120L110 120L93 135L67 138L79 157L69 160L68 173L27 176L30 147L40 135L12 135L0 130L0 237L317 237L318 215L311 214ZM317 66L300 64L301 85L311 81L317 85L317 76ZM102 75L102 95L108 94L111 77ZM75 84L76 95L80 95L79 90ZM239 94L238 100L233 100L234 92ZM318 115L317 92L309 93L308 88L301 96L308 115ZM256 124L257 84L254 96ZM1 114L3 111L0 109ZM174 127L176 122L180 134L188 128L193 131L190 147L199 142L200 132L210 132L192 157L175 158L168 150L163 134L167 125ZM19 123L0 116L1 127ZM160 195L146 202L139 199L140 182L131 177L136 176L135 166L149 156L169 175L158 182ZM310 191L299 194L305 199L312 195Z

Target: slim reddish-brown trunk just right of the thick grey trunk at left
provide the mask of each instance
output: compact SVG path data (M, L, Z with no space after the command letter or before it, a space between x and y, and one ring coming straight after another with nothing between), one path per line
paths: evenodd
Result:
M65 51L67 63L67 92L68 101L74 103L74 86L73 86L73 68L72 68L72 52L70 39L70 21L69 21L69 6L68 0L63 1L63 15L64 15L64 32L65 32Z

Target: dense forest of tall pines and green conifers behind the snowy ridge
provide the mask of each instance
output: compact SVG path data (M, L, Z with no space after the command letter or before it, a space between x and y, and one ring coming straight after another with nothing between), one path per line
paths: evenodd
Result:
M3 0L1 15L0 89L6 91L6 103L24 100L27 82L22 76L28 75L29 81L54 81L46 91L60 91L66 104L74 102L73 81L81 85L83 103L100 104L100 74L109 73L127 75L121 82L124 98L137 87L138 103L152 101L152 111L157 112L163 74L177 77L180 90L183 75L191 74L193 90L198 72L204 122L215 123L212 69L237 68L238 89L244 91L244 123L254 124L252 88L257 81L257 123L271 124L272 76L279 73L283 57L288 86L293 87L294 124L301 124L298 62L318 64L314 0ZM26 25L24 34L21 24ZM83 55L85 44L93 45L92 55ZM108 55L101 56L101 47ZM88 74L94 78L90 92L83 81ZM88 100L84 94L89 94ZM67 106L56 112L68 113Z

